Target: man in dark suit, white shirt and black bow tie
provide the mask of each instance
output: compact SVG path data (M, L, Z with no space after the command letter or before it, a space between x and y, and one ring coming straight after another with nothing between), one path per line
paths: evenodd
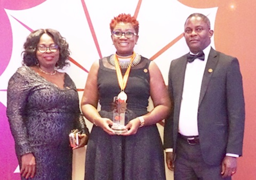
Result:
M191 14L184 32L190 53L171 62L173 112L165 122L164 148L176 180L231 179L242 156L242 75L237 58L210 46L212 36L210 20Z

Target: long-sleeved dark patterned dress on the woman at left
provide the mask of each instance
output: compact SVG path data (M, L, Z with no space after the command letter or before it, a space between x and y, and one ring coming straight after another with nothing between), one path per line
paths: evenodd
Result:
M71 179L68 135L74 128L88 134L75 84L68 74L64 81L60 89L28 66L18 68L9 80L7 117L20 167L22 155L35 156L36 175L31 179Z

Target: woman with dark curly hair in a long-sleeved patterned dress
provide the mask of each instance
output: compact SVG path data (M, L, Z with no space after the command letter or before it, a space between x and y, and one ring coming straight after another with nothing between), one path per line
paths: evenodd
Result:
M58 72L68 65L68 43L52 29L31 32L24 44L23 66L9 80L7 117L15 141L22 179L71 179L69 133L89 138L79 110L74 82Z

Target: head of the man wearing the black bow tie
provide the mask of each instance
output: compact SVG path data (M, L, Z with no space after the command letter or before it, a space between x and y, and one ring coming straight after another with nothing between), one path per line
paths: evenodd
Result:
M210 45L213 30L201 17L192 16L185 23L183 35L190 51L197 54Z

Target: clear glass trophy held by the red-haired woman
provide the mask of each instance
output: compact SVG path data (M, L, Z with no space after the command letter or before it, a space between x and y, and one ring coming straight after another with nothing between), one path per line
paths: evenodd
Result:
M123 91L122 91L123 92ZM125 129L125 110L126 110L126 99L125 93L119 93L122 96L114 97L113 101L113 126L111 128L115 131L116 134L122 134L126 132Z

